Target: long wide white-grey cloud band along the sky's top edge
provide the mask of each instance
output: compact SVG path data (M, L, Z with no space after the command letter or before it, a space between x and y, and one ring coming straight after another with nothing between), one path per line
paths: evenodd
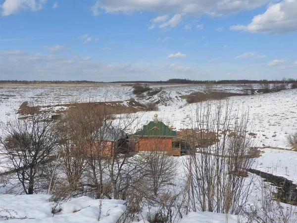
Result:
M106 13L151 11L216 16L257 8L267 2L269 0L97 0L93 7Z

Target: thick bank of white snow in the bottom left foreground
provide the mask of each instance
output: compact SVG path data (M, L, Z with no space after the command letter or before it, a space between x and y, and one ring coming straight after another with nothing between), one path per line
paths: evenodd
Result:
M49 202L50 195L0 195L0 216L26 218L26 223L82 223L98 222L99 204L101 202L100 223L116 223L126 210L125 201L121 200L95 200L90 197L73 198L60 206L60 212L52 214L53 202ZM23 204L23 205L20 205ZM8 210L5 212L3 209ZM13 210L13 211L12 211ZM0 218L1 220L1 218ZM19 222L11 219L5 222Z

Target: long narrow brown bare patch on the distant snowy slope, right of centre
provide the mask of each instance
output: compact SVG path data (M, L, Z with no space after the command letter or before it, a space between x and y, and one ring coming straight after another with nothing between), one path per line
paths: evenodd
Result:
M182 95L181 99L186 99L189 104L204 102L208 100L220 100L232 96L242 96L244 94L236 94L236 93L227 93L227 92L217 92L211 91L209 93L204 92L193 92L190 95Z

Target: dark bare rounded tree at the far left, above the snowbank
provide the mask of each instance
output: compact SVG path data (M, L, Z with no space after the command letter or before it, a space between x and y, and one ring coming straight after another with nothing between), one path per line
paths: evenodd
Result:
M36 188L38 169L49 162L60 145L59 129L49 113L31 113L26 119L8 121L0 138L3 152L11 161L26 194Z

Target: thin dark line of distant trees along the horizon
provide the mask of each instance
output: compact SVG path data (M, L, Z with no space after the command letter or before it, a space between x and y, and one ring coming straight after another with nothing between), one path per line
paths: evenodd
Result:
M148 83L148 84L269 84L269 83L297 83L297 79L283 78L282 80L190 80L190 79L168 79L167 81L19 81L0 80L0 84L99 84L99 83Z

